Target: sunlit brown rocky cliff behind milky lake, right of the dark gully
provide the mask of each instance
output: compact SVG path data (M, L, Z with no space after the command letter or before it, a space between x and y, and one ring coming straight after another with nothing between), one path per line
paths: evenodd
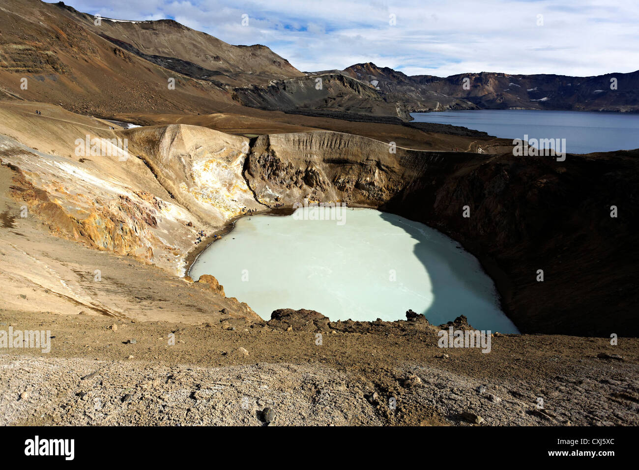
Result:
M251 150L245 176L267 204L309 198L376 207L426 171L435 178L477 159L473 153L409 150L323 131L260 136Z

